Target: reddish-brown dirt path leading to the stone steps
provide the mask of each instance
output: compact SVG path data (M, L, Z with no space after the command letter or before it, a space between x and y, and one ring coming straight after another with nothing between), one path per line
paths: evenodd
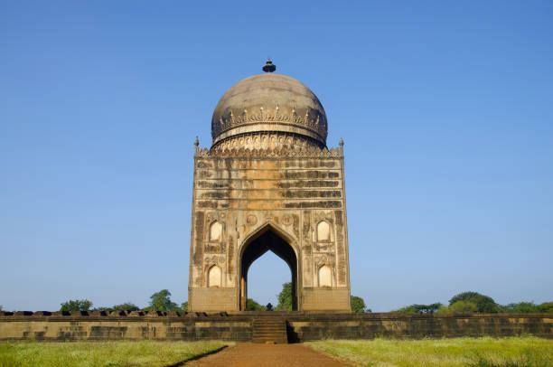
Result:
M302 344L254 344L237 343L220 353L198 361L186 363L186 367L342 367L354 366L341 362Z

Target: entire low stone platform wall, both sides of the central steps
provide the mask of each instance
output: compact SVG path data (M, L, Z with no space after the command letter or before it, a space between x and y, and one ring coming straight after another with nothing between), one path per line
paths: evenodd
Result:
M515 336L553 338L552 314L398 315L299 312L1 312L0 340L205 340L248 342L257 317L286 321L288 340Z

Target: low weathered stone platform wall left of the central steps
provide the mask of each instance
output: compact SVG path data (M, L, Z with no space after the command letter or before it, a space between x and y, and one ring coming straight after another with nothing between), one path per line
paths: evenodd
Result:
M176 312L16 312L0 315L0 340L251 340L251 317Z

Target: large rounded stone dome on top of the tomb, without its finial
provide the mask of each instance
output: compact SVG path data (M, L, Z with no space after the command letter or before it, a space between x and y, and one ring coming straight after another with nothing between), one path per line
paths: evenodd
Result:
M282 74L240 80L222 96L211 118L212 148L238 136L277 133L326 146L323 105L304 84Z

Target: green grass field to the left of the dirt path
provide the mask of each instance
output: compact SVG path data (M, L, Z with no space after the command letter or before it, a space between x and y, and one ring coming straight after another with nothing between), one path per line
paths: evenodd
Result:
M161 367L229 344L220 341L0 343L0 367Z

